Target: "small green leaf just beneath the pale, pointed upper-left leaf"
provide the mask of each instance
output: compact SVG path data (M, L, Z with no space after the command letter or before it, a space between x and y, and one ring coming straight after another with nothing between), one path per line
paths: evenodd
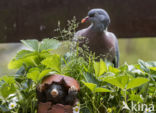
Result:
M17 53L16 59L21 59L21 58L25 58L25 57L31 56L31 55L33 55L32 53L33 52L30 51L30 50L21 50L21 51L19 51Z

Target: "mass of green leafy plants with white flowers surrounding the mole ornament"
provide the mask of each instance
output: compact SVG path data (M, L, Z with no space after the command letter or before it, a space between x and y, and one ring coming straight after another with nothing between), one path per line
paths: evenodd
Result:
M68 21L69 28L63 30L59 24L57 39L71 41L78 25L75 22ZM62 42L56 39L21 42L28 49L19 51L8 65L18 69L16 75L0 78L0 112L36 113L36 86L49 73L71 76L80 83L81 113L135 113L131 102L155 105L156 62L138 60L114 68L102 59L96 61L94 54L75 43L69 43L71 49L65 54L58 54L54 50Z

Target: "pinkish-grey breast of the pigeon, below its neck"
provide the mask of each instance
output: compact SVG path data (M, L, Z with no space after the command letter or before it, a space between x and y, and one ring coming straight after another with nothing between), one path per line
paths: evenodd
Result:
M95 53L96 56L106 58L113 61L115 56L115 46L113 38L104 33L86 32L83 34L85 40L83 44L88 46L89 50Z

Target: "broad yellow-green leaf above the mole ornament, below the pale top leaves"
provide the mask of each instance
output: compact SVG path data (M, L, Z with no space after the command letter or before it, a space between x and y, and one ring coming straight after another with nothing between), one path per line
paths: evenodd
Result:
M59 55L52 55L41 62L47 68L51 68L54 71L61 71L61 57Z

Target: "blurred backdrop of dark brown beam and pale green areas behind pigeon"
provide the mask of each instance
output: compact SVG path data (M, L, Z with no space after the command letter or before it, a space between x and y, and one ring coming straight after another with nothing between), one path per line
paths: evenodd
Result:
M23 48L21 39L57 36L58 21L62 28L73 16L80 22L92 8L109 13L109 31L119 39L120 64L154 61L155 4L155 0L0 0L0 75L12 73L7 64ZM88 24L80 24L78 29Z

